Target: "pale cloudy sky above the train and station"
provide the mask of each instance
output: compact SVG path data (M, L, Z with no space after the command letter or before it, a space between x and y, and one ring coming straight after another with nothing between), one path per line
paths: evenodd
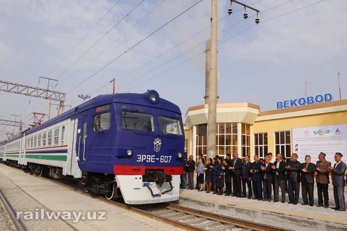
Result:
M68 92L65 104L73 107L83 102L78 98L80 93L92 97L111 93L112 85L108 83L113 78L116 92L143 93L154 89L161 97L177 104L183 114L188 107L204 104L204 41L210 36L210 0L203 0L132 49L199 0L147 0L122 21L141 1L120 0L51 72L117 1L0 0L0 80L46 88L47 82L38 84L39 76L58 79L55 90ZM250 17L243 20L243 8L234 3L233 14L227 16L230 1L218 1L220 103L251 102L259 105L261 111L275 110L277 101L305 96L306 78L308 96L331 93L338 100L338 72L342 99L347 97L347 1L243 2L264 12L259 14L261 23L251 27L255 24L254 12L247 10ZM314 3L317 4L289 13ZM284 5L274 8L281 4ZM137 23L151 10L153 12ZM289 14L274 18L285 13ZM267 19L271 20L265 21ZM250 29L244 31L247 28ZM123 35L127 30L126 36ZM182 43L196 33L199 34ZM146 65L141 67L143 64ZM0 118L14 120L11 114L16 114L29 124L33 122L30 113L47 113L48 100L45 99L6 92L0 92L0 99ZM56 106L52 106L51 115L57 115ZM13 129L17 131L16 127L0 125L0 131ZM0 132L0 140L3 139L6 139L5 132Z

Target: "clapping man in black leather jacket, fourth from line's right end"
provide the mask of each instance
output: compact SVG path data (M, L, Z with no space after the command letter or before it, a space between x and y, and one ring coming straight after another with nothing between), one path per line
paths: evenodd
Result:
M296 153L291 155L291 161L285 169L288 170L288 204L298 204L300 195L301 164L298 161L298 155Z

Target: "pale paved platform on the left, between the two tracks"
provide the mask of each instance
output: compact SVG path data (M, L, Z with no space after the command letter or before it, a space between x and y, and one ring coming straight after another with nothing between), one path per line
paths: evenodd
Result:
M106 220L67 220L77 230L181 230L100 200L71 191L62 186L0 164L0 172L47 209L54 212L106 212ZM25 203L25 201L23 201ZM39 227L40 221L37 221Z

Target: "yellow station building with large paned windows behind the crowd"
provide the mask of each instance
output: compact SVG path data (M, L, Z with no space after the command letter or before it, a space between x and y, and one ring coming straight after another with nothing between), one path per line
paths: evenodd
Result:
M264 158L268 152L290 158L292 129L346 124L347 99L264 112L250 103L217 104L216 118L216 155L225 157L237 150L239 157L251 159L255 154ZM185 150L206 157L208 105L188 108L185 120Z

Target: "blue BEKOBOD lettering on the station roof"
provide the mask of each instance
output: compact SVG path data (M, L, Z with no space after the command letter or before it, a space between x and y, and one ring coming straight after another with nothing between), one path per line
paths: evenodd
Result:
M320 102L330 102L333 96L330 93L324 95L308 96L306 98L295 98L290 100L278 101L277 109L291 108L304 105L318 104Z

